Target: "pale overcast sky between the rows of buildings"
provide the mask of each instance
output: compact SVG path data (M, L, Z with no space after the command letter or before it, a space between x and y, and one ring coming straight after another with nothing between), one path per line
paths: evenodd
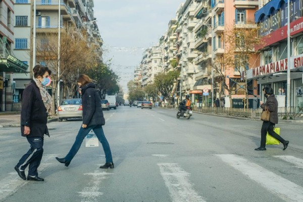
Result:
M94 15L104 40L104 61L121 77L124 92L143 51L156 45L185 0L95 0Z

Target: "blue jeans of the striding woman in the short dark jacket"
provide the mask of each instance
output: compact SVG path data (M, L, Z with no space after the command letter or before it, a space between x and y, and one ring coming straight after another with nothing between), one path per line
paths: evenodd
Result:
M103 146L106 163L113 162L110 144L109 144L109 142L107 141L107 139L104 135L102 125L87 126L86 128L81 127L78 134L77 134L76 140L75 140L71 150L69 151L69 153L65 157L65 160L68 161L68 162L72 161L74 156L77 154L77 152L78 152L78 150L79 150L79 148L82 144L83 139L89 133L90 130L93 130L93 132L95 133L98 140L101 142L101 144Z

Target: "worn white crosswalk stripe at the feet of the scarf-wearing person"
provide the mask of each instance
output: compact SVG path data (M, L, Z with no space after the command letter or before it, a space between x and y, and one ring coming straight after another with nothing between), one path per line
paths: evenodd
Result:
M46 163L49 162L49 160L55 159L57 155L44 155L41 160L41 164L38 168L39 174L41 174L43 170L45 170L49 165L52 163ZM14 168L12 168L14 170ZM25 175L27 173L25 172ZM0 180L0 200L6 198L7 196L13 194L16 192L19 188L24 186L25 184L30 183L30 181L23 180L19 177L17 172L11 172L8 173L8 176Z

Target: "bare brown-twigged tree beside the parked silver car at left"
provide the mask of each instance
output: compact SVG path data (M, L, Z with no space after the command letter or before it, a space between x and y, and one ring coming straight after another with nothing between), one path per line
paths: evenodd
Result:
M72 92L76 85L75 78L78 75L78 69L85 72L84 70L97 66L100 55L84 32L68 24L65 24L61 33L60 57L58 57L58 33L43 33L39 35L39 38L36 48L37 62L45 63L52 70L53 75L52 111L54 115L58 81L62 79L64 86L68 86ZM58 62L60 62L60 71Z

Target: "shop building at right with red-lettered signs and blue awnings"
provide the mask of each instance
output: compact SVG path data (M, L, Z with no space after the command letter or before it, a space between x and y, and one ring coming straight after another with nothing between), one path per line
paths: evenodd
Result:
M247 78L258 81L259 89L271 86L279 107L287 105L290 93L291 107L303 107L303 6L301 1L290 5L290 61L287 60L287 1L259 1L260 9L255 22L260 25L260 35L265 44L261 48L260 65L247 71ZM290 92L287 92L287 68L290 68ZM261 93L264 100L263 93Z

